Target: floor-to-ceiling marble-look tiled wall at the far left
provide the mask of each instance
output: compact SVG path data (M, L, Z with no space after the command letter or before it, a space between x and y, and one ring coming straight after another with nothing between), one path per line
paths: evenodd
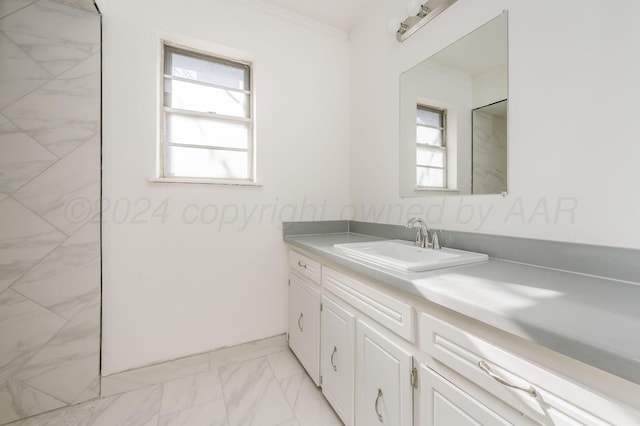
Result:
M100 16L0 0L0 424L100 393Z

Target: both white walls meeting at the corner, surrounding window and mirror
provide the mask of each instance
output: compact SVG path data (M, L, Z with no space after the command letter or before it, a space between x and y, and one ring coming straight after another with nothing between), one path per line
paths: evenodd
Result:
M247 0L99 1L103 374L284 332L282 220L419 215L446 229L640 248L640 51L627 47L640 39L640 3L459 0L398 43L387 22L405 3L378 2L347 40ZM402 200L400 73L503 9L509 195ZM161 36L254 59L262 187L148 182Z

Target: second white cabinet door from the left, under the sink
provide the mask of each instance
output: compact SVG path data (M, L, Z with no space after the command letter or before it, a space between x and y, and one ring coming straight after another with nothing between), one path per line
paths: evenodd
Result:
M322 297L320 366L322 393L346 426L353 425L355 316Z

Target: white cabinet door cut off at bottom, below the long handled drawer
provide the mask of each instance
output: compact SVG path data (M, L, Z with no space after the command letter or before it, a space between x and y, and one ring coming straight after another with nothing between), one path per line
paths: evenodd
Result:
M435 371L420 367L420 426L510 424Z

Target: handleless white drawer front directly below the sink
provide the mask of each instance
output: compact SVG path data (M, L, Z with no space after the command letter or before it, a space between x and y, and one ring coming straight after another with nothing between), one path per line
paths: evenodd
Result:
M414 341L411 305L327 267L323 268L322 285L389 330L408 341Z

